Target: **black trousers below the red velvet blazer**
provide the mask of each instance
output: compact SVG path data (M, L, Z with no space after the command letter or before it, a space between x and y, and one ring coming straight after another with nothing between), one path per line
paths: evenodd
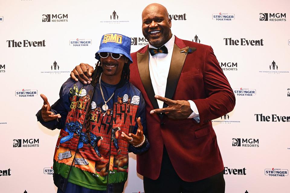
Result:
M161 171L158 179L143 178L145 193L224 193L224 172L196 182L185 182L176 174L168 153L163 147Z

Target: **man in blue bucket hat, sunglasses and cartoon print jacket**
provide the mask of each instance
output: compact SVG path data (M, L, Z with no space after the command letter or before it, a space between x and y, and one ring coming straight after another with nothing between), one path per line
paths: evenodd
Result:
M40 95L43 106L37 120L49 129L60 129L53 159L58 193L122 192L128 152L149 148L145 102L129 83L130 47L129 37L105 34L95 54L92 84L69 78L52 106Z

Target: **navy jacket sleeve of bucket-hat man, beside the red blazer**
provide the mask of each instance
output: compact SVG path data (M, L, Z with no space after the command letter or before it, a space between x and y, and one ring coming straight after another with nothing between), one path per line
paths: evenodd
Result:
M140 103L139 103L139 110L138 113L136 114L136 120L138 119L138 117L140 117L141 119L141 124L143 126L143 134L145 135L145 142L141 147L134 147L133 145L129 145L128 147L128 151L132 152L134 154L140 154L143 153L145 151L147 151L150 147L149 141L148 141L148 134L147 134L147 126L146 126L146 119L145 119L145 101L143 99L142 94L140 93ZM138 124L136 121L136 125L133 131L133 134L136 134L138 129Z

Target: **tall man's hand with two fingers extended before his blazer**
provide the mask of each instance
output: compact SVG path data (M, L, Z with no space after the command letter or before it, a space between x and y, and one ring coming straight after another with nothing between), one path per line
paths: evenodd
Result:
M155 98L166 103L168 107L153 109L150 111L150 114L164 113L170 119L186 119L193 112L189 102L186 100L171 100L158 95L155 95Z

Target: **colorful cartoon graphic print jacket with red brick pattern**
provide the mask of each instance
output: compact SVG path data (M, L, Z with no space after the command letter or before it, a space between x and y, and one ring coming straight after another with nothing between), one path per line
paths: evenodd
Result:
M67 182L94 190L122 192L128 176L128 152L143 153L147 140L145 102L141 92L127 80L118 85L101 81L108 110L99 82L84 85L68 79L60 89L60 99L51 111L61 118L45 122L41 110L37 120L49 129L60 129L53 158L54 184L65 191ZM135 148L121 137L136 133L141 118L145 143Z

